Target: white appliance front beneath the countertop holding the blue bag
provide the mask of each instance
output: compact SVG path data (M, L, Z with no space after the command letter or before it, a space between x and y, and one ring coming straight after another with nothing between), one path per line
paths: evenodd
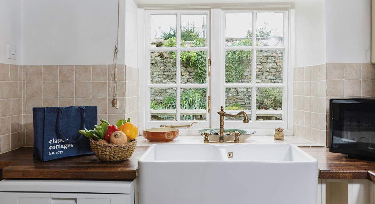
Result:
M134 204L134 181L5 179L0 204Z

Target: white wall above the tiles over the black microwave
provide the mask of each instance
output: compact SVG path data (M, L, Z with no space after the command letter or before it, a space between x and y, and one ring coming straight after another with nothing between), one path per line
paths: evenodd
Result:
M326 0L327 62L371 62L371 0Z

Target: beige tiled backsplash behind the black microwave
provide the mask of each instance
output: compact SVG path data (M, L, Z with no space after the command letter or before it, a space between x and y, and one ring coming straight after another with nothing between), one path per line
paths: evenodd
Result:
M294 68L294 135L326 145L329 99L375 96L370 63L327 63Z

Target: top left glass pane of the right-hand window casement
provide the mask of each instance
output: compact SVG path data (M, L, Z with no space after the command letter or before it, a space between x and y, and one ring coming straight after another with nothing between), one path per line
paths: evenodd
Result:
M252 46L252 13L225 14L225 46Z

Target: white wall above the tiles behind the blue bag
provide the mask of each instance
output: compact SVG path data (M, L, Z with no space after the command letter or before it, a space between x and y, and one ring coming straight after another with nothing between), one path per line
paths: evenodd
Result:
M120 2L124 15L125 1ZM23 64L112 64L117 5L117 0L22 0ZM117 62L124 64L120 19Z

